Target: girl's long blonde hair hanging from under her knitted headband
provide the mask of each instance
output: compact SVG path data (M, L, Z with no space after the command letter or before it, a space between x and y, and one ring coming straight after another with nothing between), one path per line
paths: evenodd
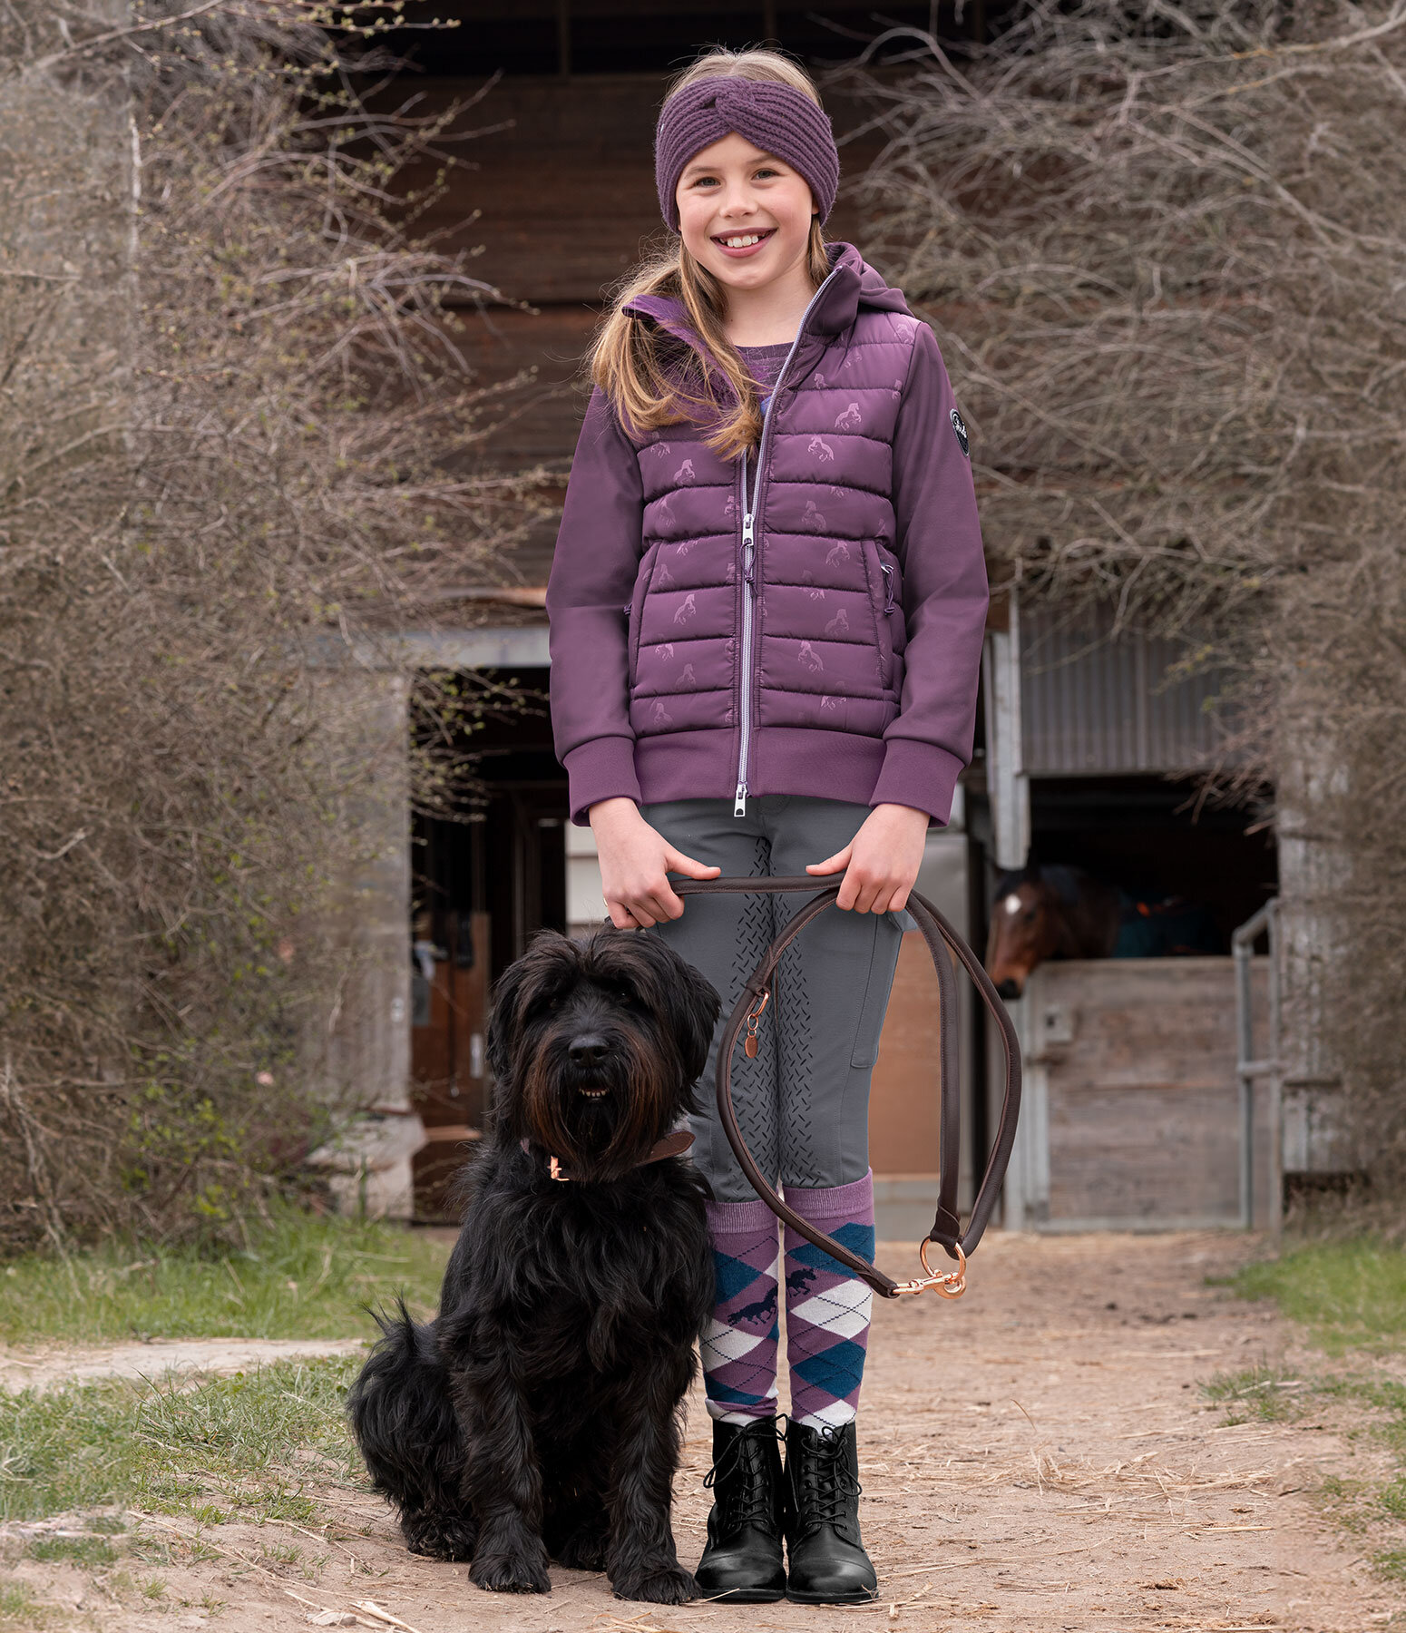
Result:
M754 51L715 47L691 62L665 93L665 101L686 85L702 78L781 80L820 106L820 93L810 75L790 57L764 46ZM830 273L820 217L810 217L807 271L815 287ZM732 385L736 402L730 408L717 400L712 379L701 366L692 346L679 341L652 322L621 309L637 296L671 296L681 300L689 323L717 359L720 372ZM689 253L683 238L668 250L655 251L638 263L611 294L611 310L586 356L591 380L611 398L621 423L634 434L663 425L679 425L701 415L720 415L717 426L704 438L723 459L736 459L761 436L761 402L756 382L741 361L736 346L723 331L727 291L705 266Z

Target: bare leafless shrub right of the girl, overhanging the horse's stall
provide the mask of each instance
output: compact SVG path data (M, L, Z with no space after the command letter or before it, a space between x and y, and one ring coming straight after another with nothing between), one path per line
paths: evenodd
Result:
M937 327L999 576L1226 666L1244 779L1292 776L1336 857L1300 903L1321 1042L1401 1172L1406 7L1035 0L962 62L906 33L911 77L859 77L870 248Z

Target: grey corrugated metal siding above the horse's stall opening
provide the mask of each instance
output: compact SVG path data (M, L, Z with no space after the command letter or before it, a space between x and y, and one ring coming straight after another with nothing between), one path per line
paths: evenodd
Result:
M1021 607L1021 736L1027 776L1187 771L1208 764L1220 732L1205 704L1217 671L1166 683L1181 642L1110 635L1112 611L1078 619Z

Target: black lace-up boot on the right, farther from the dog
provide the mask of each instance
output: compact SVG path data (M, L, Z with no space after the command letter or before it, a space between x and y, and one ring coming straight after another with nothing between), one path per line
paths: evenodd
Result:
M803 1605L875 1599L879 1577L859 1540L859 1448L854 1419L785 1426L785 1597Z

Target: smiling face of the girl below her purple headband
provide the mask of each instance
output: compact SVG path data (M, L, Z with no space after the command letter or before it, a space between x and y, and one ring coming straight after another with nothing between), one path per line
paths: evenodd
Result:
M810 185L730 131L684 165L674 199L689 255L733 289L761 289L805 263Z

